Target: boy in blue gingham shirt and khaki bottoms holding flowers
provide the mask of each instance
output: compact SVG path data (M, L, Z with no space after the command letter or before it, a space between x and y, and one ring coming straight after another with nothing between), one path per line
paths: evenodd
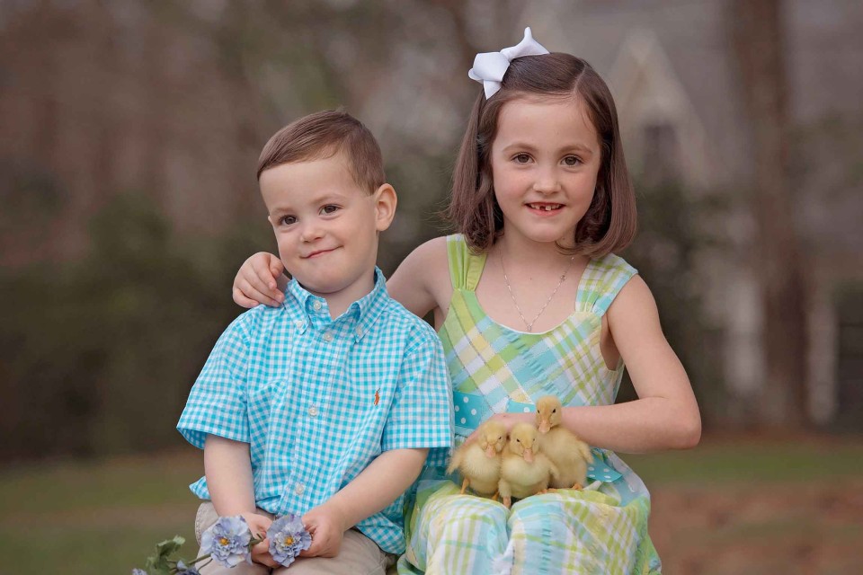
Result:
M265 533L292 512L312 546L291 575L384 573L405 547L404 492L427 455L445 456L452 420L440 341L387 296L375 265L396 191L374 137L340 111L271 137L258 181L293 279L282 305L222 334L177 424L204 449L191 491L211 502L196 533L232 515ZM268 544L253 565L201 573L269 573Z

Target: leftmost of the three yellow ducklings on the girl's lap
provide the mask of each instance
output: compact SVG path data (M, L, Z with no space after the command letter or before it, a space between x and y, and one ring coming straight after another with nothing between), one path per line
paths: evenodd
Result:
M501 478L501 452L506 445L506 427L503 423L487 420L476 429L476 441L464 443L452 456L447 473L456 469L465 480L461 492L467 486L479 495L497 493L497 482Z

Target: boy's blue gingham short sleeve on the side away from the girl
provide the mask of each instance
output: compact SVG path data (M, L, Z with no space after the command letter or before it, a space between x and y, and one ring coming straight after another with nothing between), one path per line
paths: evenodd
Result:
M249 338L245 314L228 326L209 354L189 393L177 429L202 449L208 435L249 442L246 365Z

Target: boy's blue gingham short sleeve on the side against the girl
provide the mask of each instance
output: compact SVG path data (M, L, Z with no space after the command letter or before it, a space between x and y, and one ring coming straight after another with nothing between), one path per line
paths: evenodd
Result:
M440 340L429 328L405 353L381 450L452 444L452 394Z

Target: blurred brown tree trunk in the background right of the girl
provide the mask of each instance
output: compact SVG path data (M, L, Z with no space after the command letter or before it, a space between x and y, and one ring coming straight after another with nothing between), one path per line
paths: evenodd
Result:
M764 310L766 380L759 423L805 426L806 289L788 175L788 89L781 0L733 0L729 14L752 127L756 272Z

